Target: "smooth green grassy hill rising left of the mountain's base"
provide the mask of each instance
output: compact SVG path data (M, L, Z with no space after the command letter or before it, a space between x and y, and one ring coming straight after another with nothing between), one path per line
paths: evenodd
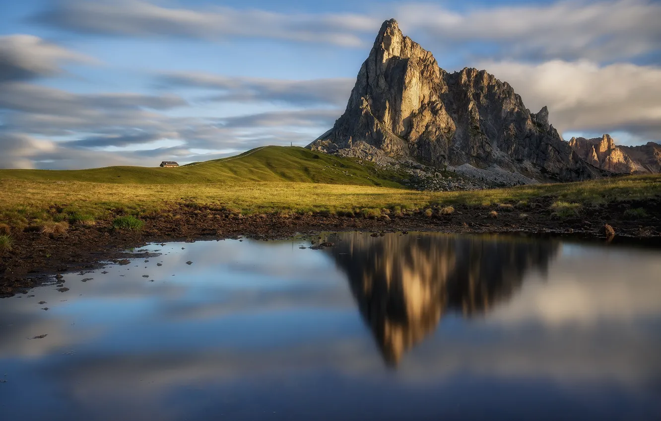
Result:
M92 170L0 170L0 179L132 184L297 181L404 187L399 182L404 177L405 174L381 170L372 162L359 163L355 158L338 158L291 146L266 146L237 156L179 168L114 166Z

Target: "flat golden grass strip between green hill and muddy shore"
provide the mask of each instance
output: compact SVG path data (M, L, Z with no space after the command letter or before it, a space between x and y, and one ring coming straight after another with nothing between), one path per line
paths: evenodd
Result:
M661 176L629 176L579 183L557 183L466 192L418 192L369 185L289 181L218 183L96 183L2 179L0 223L21 226L85 216L167 212L182 203L233 209L243 214L270 212L365 212L366 209L411 210L430 205L488 205L549 197L594 205L661 196Z

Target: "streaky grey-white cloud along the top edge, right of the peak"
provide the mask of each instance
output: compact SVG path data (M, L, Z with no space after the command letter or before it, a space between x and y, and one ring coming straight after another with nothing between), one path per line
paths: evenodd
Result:
M456 49L480 42L496 51L473 55L501 59L612 62L658 51L661 41L661 4L648 0L500 5L463 13L420 3L399 7L396 15L405 30L420 32L433 44Z

